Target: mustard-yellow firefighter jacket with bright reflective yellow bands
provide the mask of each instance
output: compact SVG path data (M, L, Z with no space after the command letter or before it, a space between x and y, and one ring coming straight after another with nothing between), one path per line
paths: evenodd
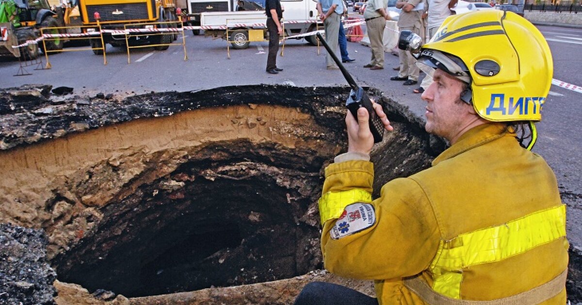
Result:
M329 271L374 279L380 304L496 300L528 291L517 303L566 303L569 245L555 175L505 125L467 131L431 168L388 182L375 200L373 178L372 163L361 160L325 170L321 249ZM368 223L357 223L362 215Z

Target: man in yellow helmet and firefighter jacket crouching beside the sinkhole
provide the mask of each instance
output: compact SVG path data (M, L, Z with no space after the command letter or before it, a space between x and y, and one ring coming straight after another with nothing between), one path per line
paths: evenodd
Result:
M374 279L377 299L318 282L296 304L565 304L565 205L529 150L553 73L544 37L510 12L450 16L418 63L434 78L422 95L425 129L450 147L372 200L373 139L360 108L357 121L346 116L347 153L325 169L325 268Z

